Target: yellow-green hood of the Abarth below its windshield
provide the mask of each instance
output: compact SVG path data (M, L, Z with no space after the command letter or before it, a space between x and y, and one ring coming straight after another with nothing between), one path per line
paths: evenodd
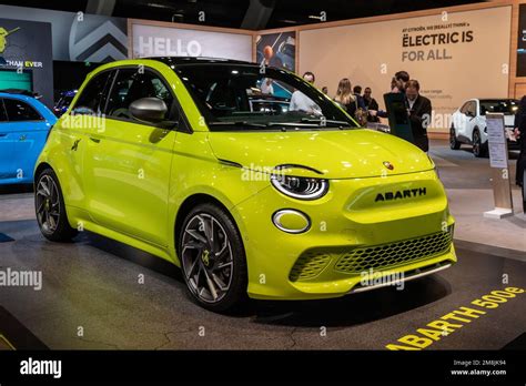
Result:
M218 159L260 172L292 165L289 174L300 172L304 176L357 179L434 167L427 154L409 142L364 129L211 132L209 141ZM394 169L387 170L384 162L390 162Z

